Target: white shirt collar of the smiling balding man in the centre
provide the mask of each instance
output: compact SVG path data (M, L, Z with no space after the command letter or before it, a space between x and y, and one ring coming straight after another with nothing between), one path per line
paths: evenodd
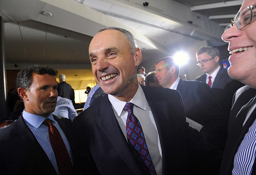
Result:
M114 97L110 94L108 94L108 99L110 100L116 114L119 117L124 109L126 102L118 100L116 97ZM134 95L132 100L130 100L130 102L132 102L135 106L137 106L143 110L146 110L146 97L145 97L145 94L140 85L139 85L139 88L138 88L136 94Z

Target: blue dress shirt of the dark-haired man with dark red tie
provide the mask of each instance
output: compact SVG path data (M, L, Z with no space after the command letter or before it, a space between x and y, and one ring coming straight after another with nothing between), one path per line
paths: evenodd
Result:
M58 170L58 165L57 165L57 162L56 162L56 159L54 156L54 152L52 150L52 146L51 146L50 139L49 139L48 126L42 124L46 118L44 118L42 116L35 115L35 114L30 114L30 113L26 112L25 110L23 111L22 116L23 116L28 128L34 134L36 140L38 141L38 143L40 144L42 149L44 149L44 152L50 159L52 166L54 167L55 171L59 175L60 173ZM52 120L53 125L60 132L60 135L64 141L64 144L66 145L69 157L72 162L72 153L71 153L70 145L68 143L68 139L66 138L62 129L60 128L60 125L58 124L58 122L56 122L56 120L53 118L52 114L50 114L47 118Z

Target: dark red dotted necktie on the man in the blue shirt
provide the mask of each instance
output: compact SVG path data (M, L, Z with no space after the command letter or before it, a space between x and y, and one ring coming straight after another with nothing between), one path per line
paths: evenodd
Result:
M72 164L68 155L67 148L62 140L62 137L60 136L60 132L52 124L50 119L46 118L43 123L48 126L49 138L60 175L71 175Z

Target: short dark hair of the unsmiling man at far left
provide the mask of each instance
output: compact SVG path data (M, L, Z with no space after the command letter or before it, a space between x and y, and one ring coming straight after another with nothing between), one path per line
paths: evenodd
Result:
M38 75L48 74L56 76L58 74L58 71L50 67L40 65L25 67L17 74L16 88L18 89L19 87L22 87L24 89L29 89L30 85L32 84L32 73L36 73Z

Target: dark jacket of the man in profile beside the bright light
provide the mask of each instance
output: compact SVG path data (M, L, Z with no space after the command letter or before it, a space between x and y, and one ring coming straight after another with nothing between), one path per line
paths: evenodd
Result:
M224 148L228 118L214 100L210 87L199 81L180 79L177 90L182 96L186 117L204 126L200 132L209 142Z

